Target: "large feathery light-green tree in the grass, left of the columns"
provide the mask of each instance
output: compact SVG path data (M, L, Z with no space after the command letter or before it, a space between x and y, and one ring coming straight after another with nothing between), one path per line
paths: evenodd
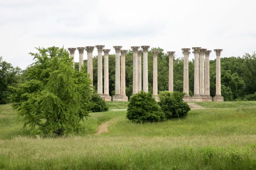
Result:
M13 87L12 102L31 133L58 136L75 133L90 109L90 79L72 68L64 48L37 48L24 83Z

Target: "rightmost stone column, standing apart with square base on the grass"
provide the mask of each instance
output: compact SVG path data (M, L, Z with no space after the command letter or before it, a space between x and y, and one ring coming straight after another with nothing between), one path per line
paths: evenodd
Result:
M216 53L216 95L213 97L214 102L223 102L221 96L221 51L222 49L215 49Z

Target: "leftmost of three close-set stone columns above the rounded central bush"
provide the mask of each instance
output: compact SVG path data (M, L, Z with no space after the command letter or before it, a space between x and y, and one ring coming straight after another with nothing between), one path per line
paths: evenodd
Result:
M138 49L140 47L133 46L131 47L133 51L133 83L132 83L132 94L138 93Z

